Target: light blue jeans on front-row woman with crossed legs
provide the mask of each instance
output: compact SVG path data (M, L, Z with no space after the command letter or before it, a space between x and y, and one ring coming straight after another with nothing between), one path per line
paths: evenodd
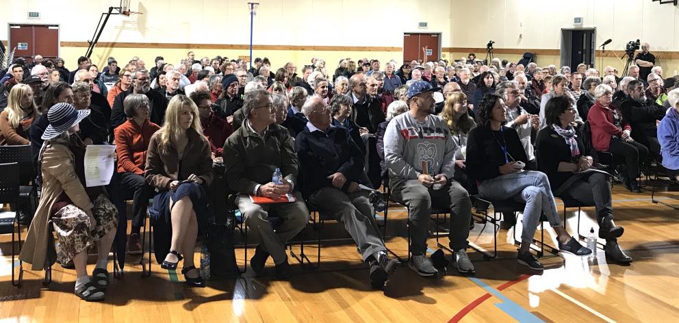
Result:
M541 214L545 214L552 227L560 227L561 218L556 211L556 202L552 195L552 188L543 172L528 170L500 175L494 179L487 179L478 185L478 193L482 198L491 200L507 200L526 203L524 208L523 232L521 242L533 242L535 229Z

